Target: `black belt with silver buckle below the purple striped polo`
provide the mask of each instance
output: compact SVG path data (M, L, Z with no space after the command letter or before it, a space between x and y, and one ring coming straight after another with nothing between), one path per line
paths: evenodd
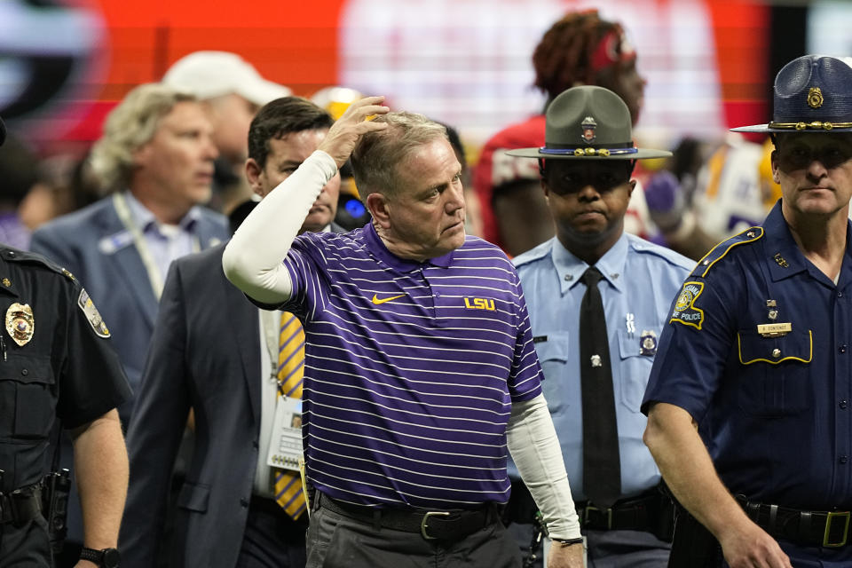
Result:
M500 518L495 503L487 503L480 509L429 511L355 505L335 501L319 491L316 492L315 499L315 509L328 509L343 517L374 525L376 530L384 527L404 533L420 533L425 540L461 540L493 525Z

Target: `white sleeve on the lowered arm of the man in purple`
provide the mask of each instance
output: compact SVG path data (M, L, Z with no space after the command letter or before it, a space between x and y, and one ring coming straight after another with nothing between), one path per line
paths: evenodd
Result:
M580 538L580 520L544 395L512 405L506 438L509 453L548 525L551 538Z

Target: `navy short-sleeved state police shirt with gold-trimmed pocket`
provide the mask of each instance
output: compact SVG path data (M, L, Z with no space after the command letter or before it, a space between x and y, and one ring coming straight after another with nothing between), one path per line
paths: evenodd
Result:
M722 242L673 304L643 403L680 406L722 482L753 501L852 507L852 248L837 285L802 254L778 201ZM770 336L769 324L790 324ZM786 327L786 326L783 326Z

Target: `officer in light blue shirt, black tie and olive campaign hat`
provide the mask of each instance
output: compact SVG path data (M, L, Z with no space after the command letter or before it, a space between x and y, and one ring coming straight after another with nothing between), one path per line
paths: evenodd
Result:
M517 256L515 264L544 369L541 386L587 538L587 565L663 567L669 545L657 535L665 530L666 501L642 443L646 419L639 406L668 306L695 263L625 233L624 216L635 191L635 161L671 154L635 148L627 105L601 87L575 87L556 97L546 130L544 148L509 154L540 160L556 237ZM590 345L587 357L583 340L596 333L582 316L590 286L603 310L589 312L600 320L590 323L602 324L604 344ZM589 391L596 385L585 382L587 370L602 373L597 379L609 383L609 398L597 400ZM590 414L607 420L589 422ZM608 438L594 433L600 428ZM610 454L589 455L606 444Z

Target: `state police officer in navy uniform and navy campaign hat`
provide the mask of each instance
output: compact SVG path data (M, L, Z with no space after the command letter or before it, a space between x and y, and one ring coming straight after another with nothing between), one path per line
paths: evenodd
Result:
M772 122L735 130L770 133L782 198L699 261L660 339L645 440L692 516L673 564L850 566L852 68L794 59Z

